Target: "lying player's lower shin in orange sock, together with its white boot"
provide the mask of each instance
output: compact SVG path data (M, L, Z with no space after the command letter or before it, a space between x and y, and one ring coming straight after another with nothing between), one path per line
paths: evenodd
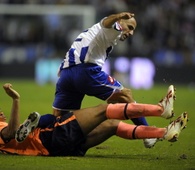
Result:
M119 134L120 137L127 139L157 138L175 142L179 137L181 130L186 127L187 121L188 114L184 112L165 128L127 125L124 122L120 122L117 128L117 134Z

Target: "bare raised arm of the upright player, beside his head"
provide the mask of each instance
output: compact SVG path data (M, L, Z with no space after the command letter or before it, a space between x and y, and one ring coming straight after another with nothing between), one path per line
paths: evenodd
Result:
M118 13L118 14L112 14L110 16L108 16L107 18L105 18L102 21L102 25L105 28L111 28L112 25L121 20L121 19L130 19L131 17L134 17L134 14L129 13L129 12L122 12L122 13Z

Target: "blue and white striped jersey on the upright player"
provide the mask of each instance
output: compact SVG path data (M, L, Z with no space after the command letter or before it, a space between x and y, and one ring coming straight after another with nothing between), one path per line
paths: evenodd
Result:
M121 27L116 22L112 28L104 28L102 21L78 35L66 53L60 69L80 63L103 66L113 46L118 42Z

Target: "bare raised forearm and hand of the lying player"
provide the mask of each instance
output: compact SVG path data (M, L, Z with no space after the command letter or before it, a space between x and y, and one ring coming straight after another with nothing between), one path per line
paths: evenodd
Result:
M3 88L7 95L12 98L12 108L8 126L2 129L1 135L4 140L10 140L15 137L15 132L19 127L20 95L12 88L10 83L4 84Z

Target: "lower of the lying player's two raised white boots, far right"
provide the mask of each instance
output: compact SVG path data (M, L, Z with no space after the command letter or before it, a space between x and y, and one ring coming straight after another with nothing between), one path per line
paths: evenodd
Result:
M186 128L187 121L188 114L187 112L184 112L167 126L167 132L164 139L168 140L169 142L177 141L181 130Z

